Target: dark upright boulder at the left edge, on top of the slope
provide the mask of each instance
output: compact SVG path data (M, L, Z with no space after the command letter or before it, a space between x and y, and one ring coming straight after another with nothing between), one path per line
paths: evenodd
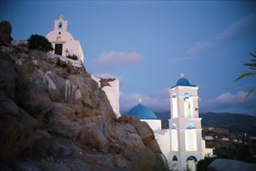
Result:
M11 46L12 44L12 25L9 22L0 23L0 45Z

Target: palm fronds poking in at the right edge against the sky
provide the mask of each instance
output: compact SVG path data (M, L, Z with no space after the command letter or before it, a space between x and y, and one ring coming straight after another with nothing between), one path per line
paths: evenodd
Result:
M241 76L238 76L234 81L238 81L242 78L248 77L248 76L256 76L256 55L253 53L250 53L251 55L251 62L244 64L244 66L249 67L251 70L250 72L243 73ZM245 99L248 98L254 91L256 90L256 86L252 87L247 94L245 95Z

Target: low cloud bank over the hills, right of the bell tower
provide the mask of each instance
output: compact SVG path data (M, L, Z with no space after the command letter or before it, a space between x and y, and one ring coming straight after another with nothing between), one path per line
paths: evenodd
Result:
M201 100L202 112L245 112L256 114L256 97L251 96L244 100L246 92L240 91L236 94L223 93L213 99Z

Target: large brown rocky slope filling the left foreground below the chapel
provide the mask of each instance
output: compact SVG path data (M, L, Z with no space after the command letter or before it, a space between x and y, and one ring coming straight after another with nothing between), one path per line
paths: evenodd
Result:
M90 74L60 63L0 46L0 169L167 170L147 123L117 120Z

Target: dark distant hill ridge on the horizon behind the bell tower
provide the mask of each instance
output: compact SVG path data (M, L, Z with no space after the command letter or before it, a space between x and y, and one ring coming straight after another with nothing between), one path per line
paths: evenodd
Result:
M167 125L170 112L157 112L162 124ZM256 136L256 117L248 114L231 112L201 112L203 126L213 126L231 130L233 132L246 132Z

